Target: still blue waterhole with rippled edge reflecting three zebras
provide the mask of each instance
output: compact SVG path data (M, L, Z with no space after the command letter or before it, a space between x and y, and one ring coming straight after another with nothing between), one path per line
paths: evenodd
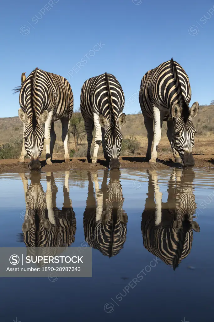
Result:
M92 278L1 278L0 321L214 320L213 171L0 180L1 247L93 247ZM32 238L36 220L45 238Z

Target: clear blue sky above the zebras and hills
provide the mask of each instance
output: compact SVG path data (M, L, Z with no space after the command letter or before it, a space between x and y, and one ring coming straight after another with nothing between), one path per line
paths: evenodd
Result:
M129 102L125 112L138 112L134 97L141 78L171 57L189 75L191 103L209 105L214 99L213 6L214 0L2 2L0 117L18 115L18 94L12 89L21 84L22 72L29 75L35 67L70 79L74 109L86 79L112 73Z

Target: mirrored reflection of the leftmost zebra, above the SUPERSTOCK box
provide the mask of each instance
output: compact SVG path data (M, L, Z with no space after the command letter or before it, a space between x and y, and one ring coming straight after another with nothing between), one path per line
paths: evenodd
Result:
M75 241L76 216L69 199L68 177L69 170L65 172L63 185L64 203L62 209L56 207L57 186L53 173L47 173L47 190L43 191L40 183L41 174L30 174L31 184L25 174L20 174L25 193L26 212L22 224L23 241L31 252L31 247L41 248L49 255L55 254L56 247L68 247ZM33 249L32 252L35 253ZM34 254L33 253L33 254ZM51 254L50 254L51 253ZM35 255L35 254L34 254Z

